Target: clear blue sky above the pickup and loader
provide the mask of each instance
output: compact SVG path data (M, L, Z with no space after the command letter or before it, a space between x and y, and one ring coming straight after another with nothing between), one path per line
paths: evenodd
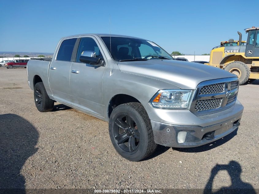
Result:
M252 10L258 0L2 0L1 5L0 51L54 52L61 37L111 30L151 40L169 53L204 54L220 41L238 40L237 31L246 40L244 29L259 26Z

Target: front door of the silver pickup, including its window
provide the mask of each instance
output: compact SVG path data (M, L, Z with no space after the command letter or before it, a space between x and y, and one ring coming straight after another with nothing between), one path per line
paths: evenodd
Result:
M102 59L105 56L94 36L80 38L76 60L72 63L70 70L70 91L73 105L92 114L103 116L102 79L107 66L80 62L79 58L83 51L95 51L96 57Z

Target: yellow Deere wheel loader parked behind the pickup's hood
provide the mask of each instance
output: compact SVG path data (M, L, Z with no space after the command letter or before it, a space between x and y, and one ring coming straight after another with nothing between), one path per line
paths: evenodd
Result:
M214 47L211 50L210 62L205 63L236 74L240 84L259 79L259 27L245 31L248 33L246 45L242 41L242 34L238 32L237 45L223 44Z

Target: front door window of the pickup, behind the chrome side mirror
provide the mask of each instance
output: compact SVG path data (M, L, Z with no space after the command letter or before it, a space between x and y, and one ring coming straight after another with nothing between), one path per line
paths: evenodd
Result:
M94 51L96 53L96 58L99 58L99 57L103 58L101 51L97 46L97 43L92 38L89 38L89 37L81 38L78 46L78 50L77 50L76 62L81 63L79 61L79 58L83 51Z

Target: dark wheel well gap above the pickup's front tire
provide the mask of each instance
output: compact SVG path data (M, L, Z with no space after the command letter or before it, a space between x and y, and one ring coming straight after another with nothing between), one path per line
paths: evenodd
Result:
M136 98L127 95L127 94L117 94L110 100L109 107L108 107L108 117L110 117L113 109L116 106L129 103L129 102L138 102L140 103Z

